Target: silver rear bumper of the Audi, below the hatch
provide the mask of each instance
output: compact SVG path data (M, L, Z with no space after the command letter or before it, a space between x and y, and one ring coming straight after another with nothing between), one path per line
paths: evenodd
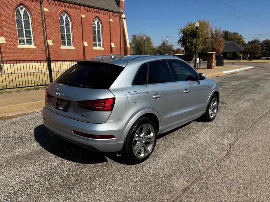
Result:
M129 121L128 119L124 119L111 121L108 120L106 123L99 124L86 123L61 116L48 110L46 107L43 108L42 115L43 124L51 133L54 133L68 141L79 144L91 150L102 152L116 152L122 149L124 142L121 139ZM112 134L115 136L115 139L90 139L75 135L72 130L95 135Z

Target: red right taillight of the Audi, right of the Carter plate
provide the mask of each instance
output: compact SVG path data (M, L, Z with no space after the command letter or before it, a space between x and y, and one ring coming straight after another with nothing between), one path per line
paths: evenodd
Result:
M112 111L112 108L114 107L114 98L77 101L77 105L78 107L93 111Z

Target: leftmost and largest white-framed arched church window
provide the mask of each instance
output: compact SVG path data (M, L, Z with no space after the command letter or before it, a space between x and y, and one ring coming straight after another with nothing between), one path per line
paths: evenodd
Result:
M19 45L33 45L31 18L24 6L19 6L15 12Z

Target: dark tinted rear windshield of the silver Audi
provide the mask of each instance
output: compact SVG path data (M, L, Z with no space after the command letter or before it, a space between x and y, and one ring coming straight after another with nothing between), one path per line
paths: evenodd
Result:
M108 89L123 69L106 63L79 63L56 79L56 82L81 88Z

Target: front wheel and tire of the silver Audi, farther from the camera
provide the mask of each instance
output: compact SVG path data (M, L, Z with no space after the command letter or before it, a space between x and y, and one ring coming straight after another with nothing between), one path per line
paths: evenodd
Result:
M218 98L217 95L213 94L211 96L210 102L208 103L206 107L206 111L201 116L201 121L203 122L211 122L213 121L217 116L217 110L218 110Z

